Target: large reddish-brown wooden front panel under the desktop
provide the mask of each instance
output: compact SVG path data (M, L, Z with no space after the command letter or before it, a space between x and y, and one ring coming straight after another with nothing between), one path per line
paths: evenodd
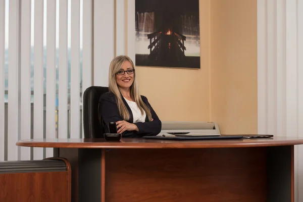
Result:
M266 201L266 149L112 149L110 201Z

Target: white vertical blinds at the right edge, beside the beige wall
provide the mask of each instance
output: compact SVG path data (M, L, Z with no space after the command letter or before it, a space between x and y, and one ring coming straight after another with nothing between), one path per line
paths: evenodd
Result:
M303 137L303 1L258 0L258 133ZM303 201L303 146L295 146Z

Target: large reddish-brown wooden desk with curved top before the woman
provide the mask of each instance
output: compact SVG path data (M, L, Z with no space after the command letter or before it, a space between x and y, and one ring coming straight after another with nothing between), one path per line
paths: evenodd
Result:
M73 201L293 201L297 137L238 140L30 139L72 168Z

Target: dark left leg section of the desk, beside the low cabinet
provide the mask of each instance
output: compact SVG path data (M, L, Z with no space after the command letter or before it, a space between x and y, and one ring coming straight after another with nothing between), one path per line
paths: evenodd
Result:
M60 148L72 168L72 201L105 202L105 149Z

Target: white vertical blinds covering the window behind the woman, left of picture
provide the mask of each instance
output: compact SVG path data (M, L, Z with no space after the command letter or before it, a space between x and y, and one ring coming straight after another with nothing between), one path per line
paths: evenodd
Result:
M0 0L0 161L53 156L20 139L81 138L82 94L135 59L135 0ZM127 48L126 48L127 47Z

